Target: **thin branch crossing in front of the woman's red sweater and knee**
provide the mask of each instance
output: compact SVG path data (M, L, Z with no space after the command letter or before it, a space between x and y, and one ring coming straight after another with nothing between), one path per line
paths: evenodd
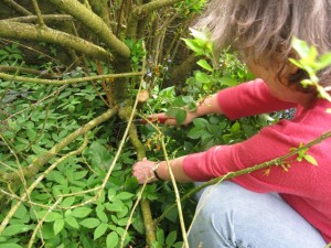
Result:
M211 180L211 181L209 181L206 183L203 183L203 184L199 185L197 187L194 187L192 191L190 191L188 194L185 194L181 198L181 202L186 201L188 198L190 198L191 196L193 196L196 192L201 191L202 188L220 182L220 180L222 180L222 181L224 181L224 180L231 180L231 179L237 177L239 175L245 175L245 174L249 174L252 172L255 172L255 171L258 171L258 170L261 170L261 169L270 168L273 165L280 166L284 162L286 162L287 159L289 159L289 158L291 158L293 155L297 155L299 152L305 151L305 150L311 148L312 145L316 145L316 144L318 144L318 143L320 143L323 140L329 139L329 138L331 138L331 131L328 131L328 132L321 134L319 138L310 141L309 143L307 143L307 144L305 144L302 147L292 149L289 153L287 153L287 154L285 154L282 157L279 157L279 158L276 158L274 160L269 160L267 162L264 162L264 163L260 163L260 164L257 164L257 165L253 165L250 168L246 168L246 169L243 169L243 170L239 170L239 171L228 172L225 175L222 175L220 177L213 179L213 180ZM311 165L311 166L313 166L313 165ZM162 213L162 215L160 215L156 219L156 225L158 225L175 206L177 206L177 204L174 203L170 207L168 207Z

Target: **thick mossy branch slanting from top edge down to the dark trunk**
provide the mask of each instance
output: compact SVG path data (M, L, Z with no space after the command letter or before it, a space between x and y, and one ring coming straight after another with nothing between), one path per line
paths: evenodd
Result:
M129 47L113 34L110 26L108 26L102 18L88 10L79 1L50 0L50 2L85 24L106 44L111 53L124 58L128 58L130 56Z

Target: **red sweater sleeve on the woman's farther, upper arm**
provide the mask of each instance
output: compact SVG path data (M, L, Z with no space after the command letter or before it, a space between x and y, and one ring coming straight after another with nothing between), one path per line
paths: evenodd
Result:
M273 112L296 107L292 103L274 97L263 79L255 79L221 90L218 105L229 119Z

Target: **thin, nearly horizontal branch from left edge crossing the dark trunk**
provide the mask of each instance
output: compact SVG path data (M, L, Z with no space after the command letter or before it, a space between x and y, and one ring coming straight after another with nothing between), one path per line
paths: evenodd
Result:
M137 73L119 73L119 74L106 74L106 75L96 75L96 76L89 76L89 77L77 77L77 78L71 78L71 79L41 79L41 78L33 78L33 77L22 77L22 76L15 76L10 75L6 73L0 73L0 78L4 80L14 80L14 82L22 82L22 83L32 83L32 84L44 84L44 85L72 85L77 83L84 83L89 80L97 80L97 79L106 79L106 78L119 78L119 77L135 77L135 76L141 76L145 73L137 72Z

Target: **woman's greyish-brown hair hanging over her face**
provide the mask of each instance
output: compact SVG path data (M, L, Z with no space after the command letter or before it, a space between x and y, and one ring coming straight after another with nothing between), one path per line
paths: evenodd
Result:
M243 57L275 67L296 57L290 45L293 35L320 54L331 50L331 0L212 0L197 26L211 31L216 50L231 45ZM285 69L280 66L278 73ZM289 83L302 77L299 71ZM331 66L319 77L331 84Z

